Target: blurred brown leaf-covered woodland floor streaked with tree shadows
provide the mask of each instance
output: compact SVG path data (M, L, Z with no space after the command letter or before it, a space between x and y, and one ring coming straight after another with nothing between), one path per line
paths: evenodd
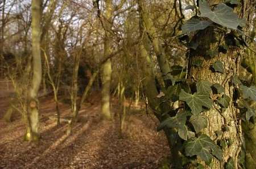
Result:
M52 96L41 98L42 138L38 143L23 141L24 122L19 117L11 123L2 120L8 95L0 84L0 168L158 168L168 156L166 138L156 132L154 118L143 109L131 108L123 138L119 138L117 104L112 105L115 120L101 121L99 96L82 107L80 121L68 137L67 122L56 126L49 118L55 114ZM61 117L70 116L68 104L61 103L60 107Z

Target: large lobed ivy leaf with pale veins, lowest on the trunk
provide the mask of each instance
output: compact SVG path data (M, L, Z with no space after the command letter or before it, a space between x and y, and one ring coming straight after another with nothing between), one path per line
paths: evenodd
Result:
M202 134L199 137L185 141L185 154L192 157L193 155L198 155L205 162L210 163L212 161L212 151L221 151L217 145L205 134ZM222 159L222 157L221 157Z

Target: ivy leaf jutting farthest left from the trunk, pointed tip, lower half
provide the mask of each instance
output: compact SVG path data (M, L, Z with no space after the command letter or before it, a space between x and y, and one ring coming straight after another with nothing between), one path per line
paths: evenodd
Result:
M169 117L166 120L162 121L159 124L157 130L160 131L164 127L168 127L168 128L183 128L185 123L186 123L188 115L189 114L187 112L179 112L174 117Z

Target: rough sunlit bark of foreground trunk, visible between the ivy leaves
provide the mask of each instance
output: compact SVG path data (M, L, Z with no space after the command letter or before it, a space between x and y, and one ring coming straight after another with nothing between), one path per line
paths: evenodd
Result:
M217 4L220 1L210 1L210 5ZM247 10L242 9L240 15L246 18L248 22L251 20L251 12L253 11L253 1L243 2L243 8L247 6ZM238 11L239 9L237 9ZM229 158L234 159L235 167L238 167L238 155L242 147L242 125L240 110L234 106L236 95L234 93L237 87L232 83L233 75L239 74L241 65L241 54L243 50L236 46L229 46L227 53L218 53L217 56L210 57L207 52L218 49L220 45L225 44L223 33L218 28L207 28L193 37L193 41L199 44L196 50L189 52L188 79L192 81L209 81L212 84L219 83L225 88L225 95L230 98L229 106L226 109L220 109L217 104L214 108L204 113L208 117L208 127L203 130L214 141L226 141L228 146L224 148L224 162L214 159L212 168L224 168L224 163ZM208 57L209 56L209 57ZM201 67L193 67L191 63L196 60L204 60ZM213 72L211 66L216 61L224 64L224 73ZM235 100L234 100L235 99ZM224 131L221 137L216 137L217 131ZM209 168L206 164L205 168Z

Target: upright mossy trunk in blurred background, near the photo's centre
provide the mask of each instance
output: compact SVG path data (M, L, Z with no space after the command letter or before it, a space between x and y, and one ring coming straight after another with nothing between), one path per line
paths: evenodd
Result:
M112 27L113 18L113 2L112 0L105 0L106 11L105 11L105 40L104 40L104 56L109 56L112 53L112 45L110 41L110 30ZM101 91L101 113L102 119L111 119L110 113L110 83L112 75L112 64L111 60L105 62L102 65L101 81L102 81L102 91Z

